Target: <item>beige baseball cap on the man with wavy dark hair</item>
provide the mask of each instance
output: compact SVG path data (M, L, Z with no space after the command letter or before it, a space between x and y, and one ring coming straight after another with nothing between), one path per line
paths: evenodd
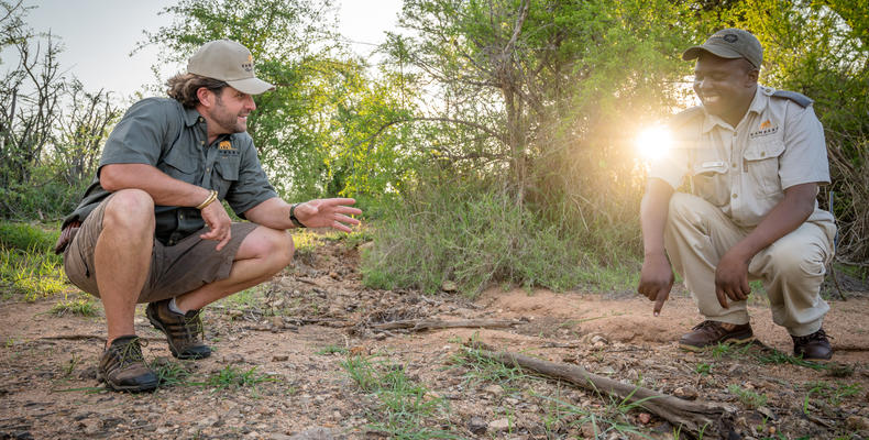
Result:
M232 40L204 44L187 62L187 73L220 79L248 95L275 89L275 86L256 77L251 51Z

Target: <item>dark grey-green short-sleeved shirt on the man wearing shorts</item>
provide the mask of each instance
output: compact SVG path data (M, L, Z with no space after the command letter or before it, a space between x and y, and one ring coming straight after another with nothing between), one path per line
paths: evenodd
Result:
M260 165L248 133L223 134L207 145L206 121L195 109L168 98L134 103L106 141L100 167L109 164L147 164L178 180L218 191L240 217L248 209L277 197ZM109 193L100 186L99 170L76 210L64 224L85 218ZM205 227L194 207L155 207L156 238L173 245Z

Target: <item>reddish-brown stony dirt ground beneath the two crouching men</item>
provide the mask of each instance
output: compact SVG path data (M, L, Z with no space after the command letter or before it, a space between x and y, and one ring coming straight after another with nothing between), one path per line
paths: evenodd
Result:
M791 341L762 301L750 307L751 324L770 349L688 353L675 340L701 317L683 292L658 318L651 302L628 293L493 288L475 300L422 296L363 287L358 260L356 249L324 242L248 297L208 307L206 339L215 353L196 362L175 361L140 306L135 326L148 343L146 359L189 374L155 393L112 393L96 380L101 310L96 317L58 317L50 312L58 298L2 304L0 439L437 437L428 429L452 438L688 437L668 420L600 393L540 376L509 376L517 370L486 376L462 345L469 340L690 400L732 405L730 438L869 436L867 293L831 300L825 329L835 363L813 369L770 355L770 349L790 353ZM514 322L426 331L376 327L402 319ZM354 356L400 370L425 387L426 402L446 409L422 417L409 432L389 431L386 419L396 411L381 395L360 388L342 366ZM232 372L270 381L226 388L208 382ZM630 427L639 433L623 432Z

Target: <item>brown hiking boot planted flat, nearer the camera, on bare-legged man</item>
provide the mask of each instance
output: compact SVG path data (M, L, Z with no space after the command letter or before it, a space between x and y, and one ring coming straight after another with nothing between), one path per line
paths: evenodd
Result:
M142 344L135 334L116 338L102 351L97 377L117 392L146 392L157 387L158 378L145 364Z

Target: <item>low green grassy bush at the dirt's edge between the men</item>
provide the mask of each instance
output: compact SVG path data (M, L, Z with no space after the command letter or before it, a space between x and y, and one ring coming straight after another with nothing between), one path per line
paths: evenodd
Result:
M630 251L610 249L604 255L564 224L516 204L508 191L483 185L429 187L395 205L374 231L362 272L366 285L380 288L432 293L450 280L469 295L492 283L620 289L634 284L635 276L626 274L638 267ZM616 253L624 255L613 258Z

